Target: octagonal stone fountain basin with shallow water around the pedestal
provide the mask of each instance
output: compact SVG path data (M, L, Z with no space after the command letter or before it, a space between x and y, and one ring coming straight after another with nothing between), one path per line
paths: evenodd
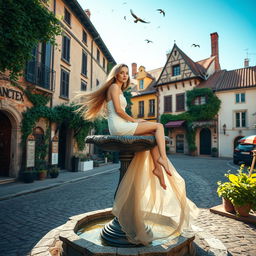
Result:
M100 233L104 225L113 218L111 208L70 217L64 225L46 234L33 248L30 255L35 256L38 253L54 256L196 255L193 234L188 234L186 237L156 240L148 246L134 247L133 245L133 248L106 245ZM84 233L82 229L85 230Z

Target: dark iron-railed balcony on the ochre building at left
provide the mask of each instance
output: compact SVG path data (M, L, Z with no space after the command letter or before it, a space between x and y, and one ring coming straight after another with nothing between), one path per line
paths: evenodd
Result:
M54 91L55 71L38 61L29 61L26 66L25 79L41 88Z

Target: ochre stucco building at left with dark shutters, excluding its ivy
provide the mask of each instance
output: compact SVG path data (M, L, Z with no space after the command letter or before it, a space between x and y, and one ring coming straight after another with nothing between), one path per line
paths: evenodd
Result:
M33 107L24 89L50 97L47 104L50 108L69 105L77 93L97 88L106 78L109 67L115 64L90 21L89 10L84 11L76 0L50 0L47 4L63 29L62 35L56 38L58 47L40 43L17 86L4 74L0 80L0 176L18 177L22 169L25 149L21 145L21 124L23 113ZM66 122L54 123L39 118L33 130L36 145L40 145L47 132L50 140L55 135L59 138L59 166L71 169L71 158L77 150L74 131Z

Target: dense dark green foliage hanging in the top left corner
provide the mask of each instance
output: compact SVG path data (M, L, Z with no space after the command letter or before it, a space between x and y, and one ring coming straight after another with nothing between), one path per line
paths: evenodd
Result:
M60 35L58 19L40 0L5 0L0 7L0 71L17 79L32 49L39 42L55 44Z

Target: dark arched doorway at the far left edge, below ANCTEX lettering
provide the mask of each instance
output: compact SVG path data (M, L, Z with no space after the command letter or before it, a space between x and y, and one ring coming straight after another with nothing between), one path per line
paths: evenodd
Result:
M9 176L12 125L9 118L0 111L0 176Z

